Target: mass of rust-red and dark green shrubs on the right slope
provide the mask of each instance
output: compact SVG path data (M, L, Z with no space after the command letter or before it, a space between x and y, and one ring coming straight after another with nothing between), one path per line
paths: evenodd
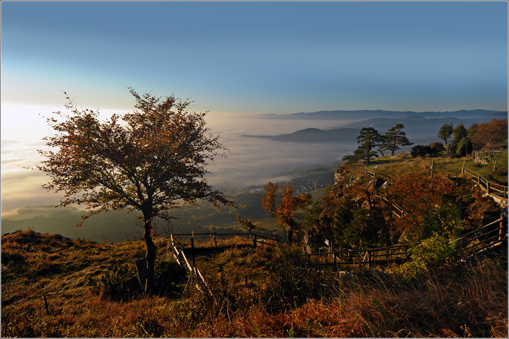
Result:
M415 166L411 163L425 164L412 159L405 166ZM430 164L426 162L428 168ZM397 167L377 170L379 177L393 173L392 168ZM416 168L374 182L363 167L340 166L336 184L316 204L319 233L325 236L330 227L336 249L365 249L422 241L433 234L455 238L500 217L497 203L467 178L442 171L430 178L428 171Z

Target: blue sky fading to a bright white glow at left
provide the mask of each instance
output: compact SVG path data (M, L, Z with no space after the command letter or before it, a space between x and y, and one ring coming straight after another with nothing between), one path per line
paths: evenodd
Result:
M36 164L63 91L105 115L132 109L127 87L211 118L507 110L507 4L3 1L2 204L42 194L20 167Z

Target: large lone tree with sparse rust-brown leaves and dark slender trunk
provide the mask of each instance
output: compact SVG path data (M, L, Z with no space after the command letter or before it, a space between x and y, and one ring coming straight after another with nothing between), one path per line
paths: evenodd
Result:
M56 151L39 153L46 159L37 168L50 177L43 187L62 192L60 206L86 206L88 215L111 210L140 211L146 243L145 291L153 290L156 248L154 217L170 218L168 210L202 199L217 208L233 206L208 184L207 163L225 156L218 136L210 134L206 112L190 112L191 102L173 95L138 95L135 110L99 120L99 111L78 109L69 97L66 112L54 112L46 137ZM65 94L65 92L64 92Z

